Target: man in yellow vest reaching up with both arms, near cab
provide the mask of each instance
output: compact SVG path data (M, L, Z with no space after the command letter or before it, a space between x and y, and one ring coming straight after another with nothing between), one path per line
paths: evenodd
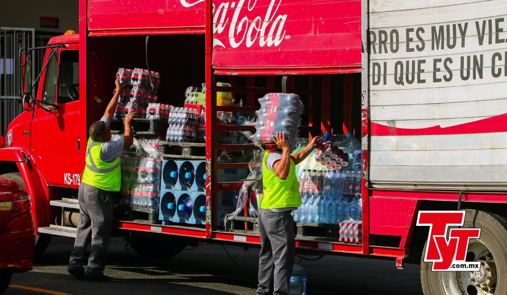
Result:
M104 115L93 122L88 133L90 138L86 146L85 170L78 191L79 222L74 250L70 255L68 272L76 279L94 281L110 280L105 276L105 256L113 229L113 200L111 192L120 191L120 161L123 150L134 142L131 121L135 113L125 117L123 140L111 140L109 124L123 90L116 79L116 92L107 105ZM85 270L86 248L91 240L91 253Z

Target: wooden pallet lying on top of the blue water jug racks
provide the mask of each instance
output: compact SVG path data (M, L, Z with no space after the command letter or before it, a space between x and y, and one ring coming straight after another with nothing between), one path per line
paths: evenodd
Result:
M205 143L160 141L159 151L162 158L206 159Z

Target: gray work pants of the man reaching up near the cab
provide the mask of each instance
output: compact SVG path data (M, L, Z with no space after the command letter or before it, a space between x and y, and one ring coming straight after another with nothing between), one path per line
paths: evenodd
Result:
M86 264L86 249L91 241L86 273L100 275L113 229L113 200L110 192L84 183L79 186L78 199L78 231L68 268L82 268Z

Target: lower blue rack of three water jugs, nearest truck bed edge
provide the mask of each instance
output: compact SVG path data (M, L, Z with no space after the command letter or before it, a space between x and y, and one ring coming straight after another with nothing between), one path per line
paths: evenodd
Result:
M159 220L203 225L206 223L206 195L198 191L162 189Z

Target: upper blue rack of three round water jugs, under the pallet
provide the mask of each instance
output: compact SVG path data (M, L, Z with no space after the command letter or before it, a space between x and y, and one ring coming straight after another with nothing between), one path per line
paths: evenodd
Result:
M162 161L161 189L205 191L206 162L180 159Z

